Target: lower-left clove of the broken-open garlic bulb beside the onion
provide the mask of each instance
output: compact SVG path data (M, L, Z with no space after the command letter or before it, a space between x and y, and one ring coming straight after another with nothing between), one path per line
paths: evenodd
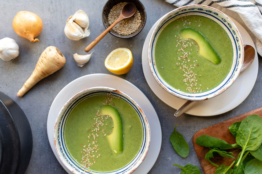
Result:
M75 23L74 21L72 21L71 23L68 22L65 25L64 32L69 39L74 41L78 41L82 39L84 35L83 29L79 25L77 25L77 23Z

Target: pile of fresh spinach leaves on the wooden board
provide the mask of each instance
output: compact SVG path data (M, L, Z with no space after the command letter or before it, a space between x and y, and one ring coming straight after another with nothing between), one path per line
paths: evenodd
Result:
M215 174L258 174L262 173L262 119L259 115L249 115L242 122L235 122L229 126L229 131L236 137L236 144L201 135L197 137L196 143L211 148L205 158L217 167ZM222 151L223 149L240 148L238 158L230 166L217 165L210 158L214 155L233 157L233 153ZM233 166L234 165L234 166ZM233 166L233 169L231 168Z

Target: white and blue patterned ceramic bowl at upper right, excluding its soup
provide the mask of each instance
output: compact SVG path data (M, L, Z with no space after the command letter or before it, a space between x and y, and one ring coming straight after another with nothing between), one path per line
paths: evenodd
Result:
M161 30L174 19L187 15L200 15L217 22L222 28L224 28L233 46L233 63L228 75L218 86L203 93L185 93L176 88L173 88L172 86L167 84L167 82L165 82L164 79L159 75L155 66L155 44ZM229 19L229 17L227 17L223 12L215 8L203 5L183 6L165 14L155 26L148 46L148 63L151 73L153 74L153 77L155 78L157 83L170 94L181 99L192 101L210 99L223 93L233 84L233 82L238 77L242 68L243 59L244 47L242 38L233 21L231 21L231 19Z

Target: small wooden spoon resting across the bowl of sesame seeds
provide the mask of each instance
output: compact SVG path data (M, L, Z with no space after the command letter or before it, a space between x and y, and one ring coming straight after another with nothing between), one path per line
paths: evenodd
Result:
M89 44L85 48L85 52L89 52L107 33L121 20L129 18L134 15L136 12L137 8L133 3L127 3L121 10L121 14L119 15L118 19L112 23L111 26L109 26L104 32L101 33L91 44Z

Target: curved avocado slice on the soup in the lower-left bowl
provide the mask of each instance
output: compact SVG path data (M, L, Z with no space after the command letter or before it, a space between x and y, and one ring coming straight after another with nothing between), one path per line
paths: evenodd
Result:
M109 145L115 155L119 155L123 152L123 130L122 121L116 108L110 105L104 105L101 107L102 115L109 115L114 122L113 131L110 135L107 135Z

